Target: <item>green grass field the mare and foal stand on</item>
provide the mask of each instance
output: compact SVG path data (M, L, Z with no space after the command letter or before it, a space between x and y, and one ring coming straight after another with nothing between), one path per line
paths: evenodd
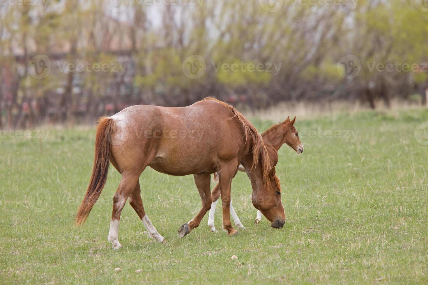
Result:
M167 244L153 242L127 204L119 250L107 241L120 181L112 167L86 223L73 223L92 170L95 129L53 129L45 142L2 138L0 283L426 283L428 146L414 136L424 121L424 109L297 118L305 151L283 146L276 167L283 229L264 217L254 225L250 182L238 173L232 200L247 229L212 233L206 214L180 239L178 227L200 209L193 177L147 169L144 207ZM357 137L346 138L347 130Z

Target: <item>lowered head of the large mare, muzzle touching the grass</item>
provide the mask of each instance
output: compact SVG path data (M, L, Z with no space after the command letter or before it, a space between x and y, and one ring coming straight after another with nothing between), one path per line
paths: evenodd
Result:
M267 180L269 187L258 189L257 192L253 191L251 200L254 207L270 221L270 226L280 229L285 223L285 212L281 202L281 185L275 175L275 167L270 169Z

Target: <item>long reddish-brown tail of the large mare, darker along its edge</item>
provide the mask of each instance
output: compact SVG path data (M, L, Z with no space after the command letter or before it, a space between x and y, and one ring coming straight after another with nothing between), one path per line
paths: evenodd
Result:
M115 123L109 117L101 117L98 122L95 135L94 167L85 197L77 211L75 218L76 225L85 222L107 181L108 167L110 166L110 142L115 129Z

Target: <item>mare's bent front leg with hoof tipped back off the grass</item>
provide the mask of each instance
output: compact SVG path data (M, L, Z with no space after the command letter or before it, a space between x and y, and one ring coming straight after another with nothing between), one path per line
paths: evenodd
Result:
M199 226L202 218L211 208L211 174L193 174L196 187L198 188L199 195L202 200L202 208L199 213L193 217L188 223L185 223L178 229L178 236L180 238L187 235L192 229Z

